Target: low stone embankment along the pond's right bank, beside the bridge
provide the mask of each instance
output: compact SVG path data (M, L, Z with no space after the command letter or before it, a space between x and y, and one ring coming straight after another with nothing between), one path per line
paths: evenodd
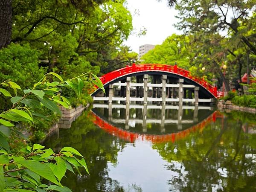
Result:
M233 105L232 102L229 100L227 100L226 102L224 100L220 100L218 101L217 106L219 109L230 109L230 110L242 111L247 113L256 113L256 108Z

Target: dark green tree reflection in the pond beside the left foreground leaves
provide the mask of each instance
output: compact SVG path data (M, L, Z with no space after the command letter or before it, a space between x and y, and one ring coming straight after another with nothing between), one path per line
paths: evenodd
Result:
M125 141L113 137L93 124L92 116L85 111L70 129L61 129L60 137L48 138L47 147L59 151L64 146L76 148L84 155L90 176L85 171L80 175L67 172L62 184L74 192L122 192L123 187L108 177L107 163L117 163L117 153L125 147Z

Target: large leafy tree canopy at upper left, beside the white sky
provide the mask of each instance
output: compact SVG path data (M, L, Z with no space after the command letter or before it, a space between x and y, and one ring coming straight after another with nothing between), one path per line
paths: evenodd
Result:
M118 60L113 57L119 52L116 47L121 49L132 29L131 14L123 3L14 0L12 41L41 50L41 63L48 72L72 72L78 61L78 67L87 61L104 66L109 55Z

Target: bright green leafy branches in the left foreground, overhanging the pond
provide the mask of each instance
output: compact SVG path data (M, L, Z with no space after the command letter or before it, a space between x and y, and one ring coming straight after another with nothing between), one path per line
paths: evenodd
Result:
M53 78L59 81L49 82L49 79ZM83 156L74 148L64 147L59 153L55 153L51 148L44 149L44 146L34 144L33 147L27 145L14 155L7 141L12 131L17 132L15 126L21 122L32 125L40 118L46 119L47 117L40 113L43 108L59 114L61 111L58 105L70 108L68 99L61 96L61 88L69 87L79 96L84 88L82 79L91 81L105 91L100 79L91 73L66 81L57 73L47 73L32 89L23 90L23 96L17 96L17 90L21 88L15 82L0 83L0 94L11 97L10 100L13 103L12 108L0 113L1 192L70 192L69 188L60 183L67 170L74 173L73 168L75 168L79 172L81 167L89 174ZM10 90L13 90L15 96L12 97ZM43 178L52 184L42 183Z

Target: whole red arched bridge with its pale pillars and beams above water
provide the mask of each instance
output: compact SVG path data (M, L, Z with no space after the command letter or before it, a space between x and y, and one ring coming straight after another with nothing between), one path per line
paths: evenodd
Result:
M136 78L134 77L136 76ZM134 79L131 79L134 78ZM217 87L177 65L132 64L100 77L106 94L92 93L95 101L212 102ZM115 87L117 88L115 88ZM126 87L126 88L125 88Z

